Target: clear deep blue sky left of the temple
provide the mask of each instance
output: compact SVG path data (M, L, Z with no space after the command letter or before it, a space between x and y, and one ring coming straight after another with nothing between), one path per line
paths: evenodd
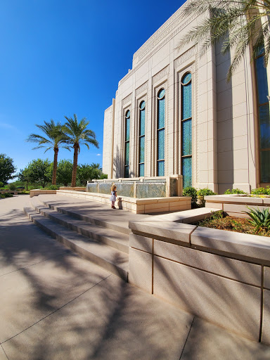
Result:
M75 113L89 120L100 148L79 163L102 165L103 115L134 52L184 1L1 0L0 153L23 169L53 151L32 150L35 124ZM99 154L99 155L98 155ZM60 149L58 159L72 159Z

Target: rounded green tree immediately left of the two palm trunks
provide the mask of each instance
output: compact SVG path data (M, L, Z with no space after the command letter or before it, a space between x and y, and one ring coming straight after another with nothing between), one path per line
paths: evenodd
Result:
M25 169L25 174L31 183L44 187L51 182L51 162L48 159L33 160Z

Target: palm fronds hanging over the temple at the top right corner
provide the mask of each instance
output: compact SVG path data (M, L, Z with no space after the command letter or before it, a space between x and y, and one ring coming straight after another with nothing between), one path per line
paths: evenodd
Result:
M264 49L264 65L268 63L270 0L191 0L182 15L191 14L208 15L181 39L178 49L189 43L199 43L202 55L221 41L221 53L234 51L228 81L248 47L252 46L251 60Z

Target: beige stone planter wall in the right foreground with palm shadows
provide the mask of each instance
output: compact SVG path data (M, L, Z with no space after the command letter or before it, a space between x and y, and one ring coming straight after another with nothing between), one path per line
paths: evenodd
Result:
M270 238L184 224L196 211L129 223L129 282L270 344Z

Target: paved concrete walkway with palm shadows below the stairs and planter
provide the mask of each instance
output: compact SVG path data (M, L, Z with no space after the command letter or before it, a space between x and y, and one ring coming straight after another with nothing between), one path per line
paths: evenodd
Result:
M0 360L270 359L72 254L25 217L28 202L0 200Z

